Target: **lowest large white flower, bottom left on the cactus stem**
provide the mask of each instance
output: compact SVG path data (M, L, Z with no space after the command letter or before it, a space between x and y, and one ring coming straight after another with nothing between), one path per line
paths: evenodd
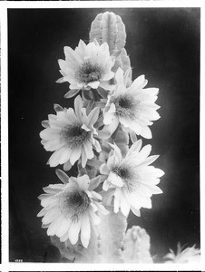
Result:
M50 184L44 188L45 194L39 196L44 209L37 217L44 217L43 228L47 228L48 236L56 235L61 242L69 239L74 245L80 235L83 247L88 247L91 229L100 223L96 211L109 213L100 202L102 196L89 190L90 181L83 175L71 177L66 184Z

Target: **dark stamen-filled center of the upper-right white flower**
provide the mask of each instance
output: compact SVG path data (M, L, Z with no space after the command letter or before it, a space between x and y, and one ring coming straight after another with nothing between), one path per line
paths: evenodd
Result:
M135 119L140 114L140 102L135 101L128 95L121 95L117 97L114 101L114 104L116 108L116 114L122 117L130 117L131 119Z

